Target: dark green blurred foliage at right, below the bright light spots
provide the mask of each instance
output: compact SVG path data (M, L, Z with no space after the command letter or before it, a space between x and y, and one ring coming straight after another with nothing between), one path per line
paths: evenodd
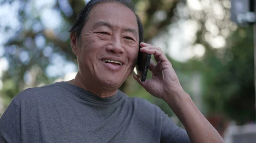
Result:
M208 112L223 112L238 124L255 121L253 27L238 28L229 38L232 47L223 53L225 60L207 55L204 72L204 100ZM241 37L239 33L245 35ZM213 55L212 55L213 56Z

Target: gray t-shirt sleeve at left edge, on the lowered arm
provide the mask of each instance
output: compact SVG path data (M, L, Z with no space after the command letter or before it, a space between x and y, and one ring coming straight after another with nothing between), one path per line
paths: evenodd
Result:
M0 143L21 143L20 106L14 99L0 117Z

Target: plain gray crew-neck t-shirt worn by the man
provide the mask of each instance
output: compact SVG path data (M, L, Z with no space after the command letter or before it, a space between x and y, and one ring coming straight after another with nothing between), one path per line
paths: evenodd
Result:
M24 90L0 118L0 143L190 143L159 107L100 98L67 82Z

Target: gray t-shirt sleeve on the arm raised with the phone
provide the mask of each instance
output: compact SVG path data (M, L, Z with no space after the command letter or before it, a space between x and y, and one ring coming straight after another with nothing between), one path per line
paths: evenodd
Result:
M191 143L186 130L162 112L161 143Z

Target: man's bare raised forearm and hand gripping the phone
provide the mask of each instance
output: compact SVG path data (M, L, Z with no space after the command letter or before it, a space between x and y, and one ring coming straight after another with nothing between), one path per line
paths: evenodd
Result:
M221 135L207 121L181 87L175 70L163 51L143 42L140 45L142 47L141 52L154 54L157 64L153 61L150 62L149 70L152 73L152 79L144 82L141 82L137 76L134 76L134 79L151 95L166 101L183 123L192 143L224 143Z

